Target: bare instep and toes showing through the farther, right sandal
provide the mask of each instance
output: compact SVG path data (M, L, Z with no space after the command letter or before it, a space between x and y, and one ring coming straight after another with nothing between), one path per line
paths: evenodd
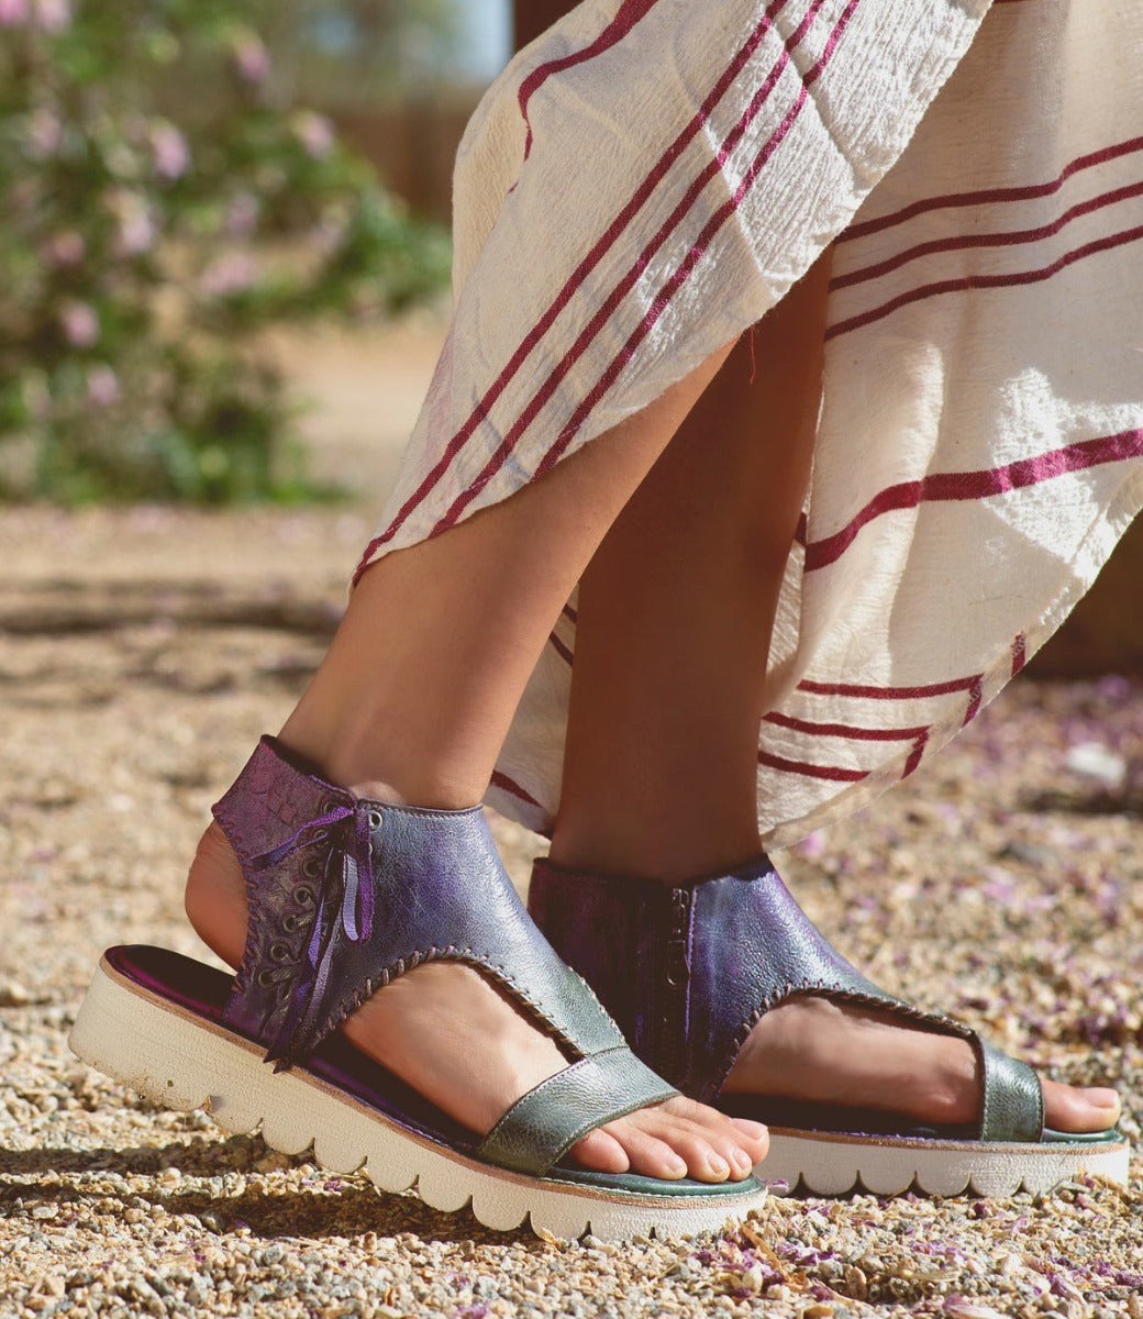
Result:
M724 1087L968 1124L980 1115L972 1045L903 1024L887 1012L800 997L767 1012L742 1046ZM1103 1132L1119 1119L1113 1089L1044 1082L1047 1125Z

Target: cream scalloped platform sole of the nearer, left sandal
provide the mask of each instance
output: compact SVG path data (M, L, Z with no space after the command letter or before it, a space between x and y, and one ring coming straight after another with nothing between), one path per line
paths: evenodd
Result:
M96 969L69 1037L83 1062L163 1108L206 1109L224 1132L262 1138L283 1154L312 1146L331 1173L365 1169L382 1191L415 1187L426 1204L456 1212L471 1204L485 1225L513 1231L530 1220L538 1235L604 1241L692 1236L721 1228L766 1202L754 1187L646 1196L575 1187L490 1167L450 1150L303 1071L274 1074L249 1041L149 995L107 963Z

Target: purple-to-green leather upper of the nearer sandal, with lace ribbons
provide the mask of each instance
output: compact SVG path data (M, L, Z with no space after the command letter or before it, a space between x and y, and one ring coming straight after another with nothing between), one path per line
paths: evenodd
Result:
M278 1070L303 1062L377 989L426 962L493 979L576 1060L481 1146L541 1175L587 1132L678 1093L529 918L481 807L360 801L264 737L214 809L247 878L247 946L223 1013Z

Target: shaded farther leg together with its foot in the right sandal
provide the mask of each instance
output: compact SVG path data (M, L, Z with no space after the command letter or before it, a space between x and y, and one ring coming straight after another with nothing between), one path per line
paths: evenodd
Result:
M820 397L820 262L730 356L608 533L579 600L552 860L679 882L761 851L758 723L770 632ZM848 1059L840 1067L838 1059ZM1103 1130L1113 1091L1045 1083L1048 1125ZM728 1091L972 1121L964 1041L799 998L767 1013Z

